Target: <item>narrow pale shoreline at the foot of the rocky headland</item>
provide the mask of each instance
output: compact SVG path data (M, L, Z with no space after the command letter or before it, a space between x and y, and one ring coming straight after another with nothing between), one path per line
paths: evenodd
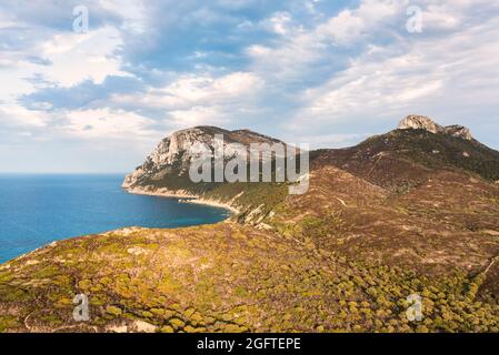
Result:
M207 206L224 209L224 210L230 211L234 215L240 213L240 211L238 209L233 207L229 203L224 203L224 202L217 201L217 200L203 199L199 195L193 195L183 190L171 191L168 189L152 190L152 189L140 189L140 187L132 187L132 189L123 187L123 190L128 193L137 194L137 195L177 199L177 200L179 200L179 203L202 204L202 205L207 205ZM187 200L182 200L182 199L187 199Z

